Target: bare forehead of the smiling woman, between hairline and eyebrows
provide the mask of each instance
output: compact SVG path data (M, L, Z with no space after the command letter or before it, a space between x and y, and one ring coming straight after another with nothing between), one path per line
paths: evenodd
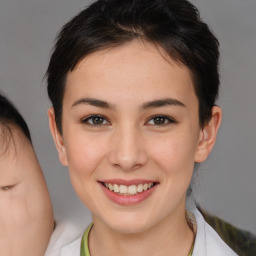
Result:
M147 93L145 93L147 92ZM134 41L85 57L68 73L69 99L95 96L133 101L152 97L186 97L194 93L190 70L150 43ZM86 95L84 95L86 94ZM91 95L90 95L91 94Z

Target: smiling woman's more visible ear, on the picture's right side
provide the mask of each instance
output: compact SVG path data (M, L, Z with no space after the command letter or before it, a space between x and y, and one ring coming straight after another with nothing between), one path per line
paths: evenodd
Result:
M212 108L211 120L200 131L199 141L194 159L195 162L203 162L207 159L210 152L212 151L216 141L217 132L220 127L221 118L222 111L220 107L214 106Z

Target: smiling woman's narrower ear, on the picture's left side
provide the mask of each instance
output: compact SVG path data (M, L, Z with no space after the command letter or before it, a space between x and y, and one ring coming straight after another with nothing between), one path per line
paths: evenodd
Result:
M67 161L66 149L65 149L65 145L64 145L62 135L60 134L60 132L57 128L57 125L56 125L55 113L54 113L53 108L48 109L48 117L49 117L50 131L51 131L53 140L55 142L56 149L57 149L58 154L59 154L59 160L64 166L67 166L68 161Z

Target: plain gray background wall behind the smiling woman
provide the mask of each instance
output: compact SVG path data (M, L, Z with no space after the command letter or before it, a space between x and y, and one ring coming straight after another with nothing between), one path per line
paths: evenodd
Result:
M87 223L90 215L58 162L43 77L57 31L88 2L0 1L0 90L28 122L56 219L77 225ZM200 169L198 200L211 213L256 233L256 1L192 2L220 41L218 104L223 109L217 144Z

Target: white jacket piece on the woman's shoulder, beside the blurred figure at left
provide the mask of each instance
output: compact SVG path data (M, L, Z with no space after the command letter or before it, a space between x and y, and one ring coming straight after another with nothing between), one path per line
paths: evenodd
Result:
M83 231L71 223L58 224L54 230L45 256L78 256Z

